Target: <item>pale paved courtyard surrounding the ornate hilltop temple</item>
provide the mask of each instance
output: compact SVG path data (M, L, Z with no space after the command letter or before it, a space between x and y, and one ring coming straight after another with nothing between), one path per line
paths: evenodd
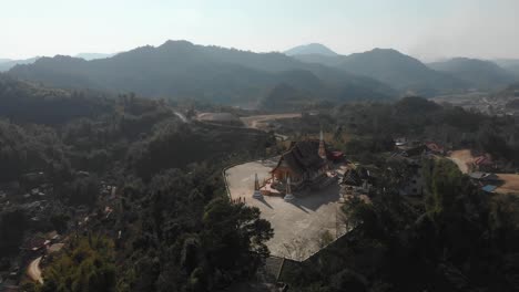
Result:
M244 198L246 205L260 208L262 218L271 222L274 238L267 246L273 255L303 261L324 247L323 234L335 239L345 232L339 210L339 186L332 185L292 202L274 196L254 199L254 175L257 174L262 184L264 178L271 177L269 170L276 161L258 160L227 169L225 176L231 197Z

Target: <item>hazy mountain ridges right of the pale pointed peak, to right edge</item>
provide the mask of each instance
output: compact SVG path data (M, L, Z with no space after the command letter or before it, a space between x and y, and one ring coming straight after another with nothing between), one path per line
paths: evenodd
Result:
M391 49L374 49L350 55L309 51L308 54L293 56L302 62L334 66L352 74L368 76L400 92L424 96L475 88L501 88L517 80L517 76L510 73L513 65L519 69L519 63L510 61L507 63L508 70L503 70L492 62L476 59L451 59L426 65Z

